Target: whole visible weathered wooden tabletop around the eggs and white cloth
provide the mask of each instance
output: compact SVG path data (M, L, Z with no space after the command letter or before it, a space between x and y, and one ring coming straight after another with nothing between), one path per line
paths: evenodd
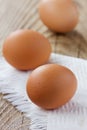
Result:
M43 25L37 12L38 2L0 0L0 48L10 32L32 28L49 39L53 52L87 59L87 0L75 0L80 21L72 32L66 34L55 34ZM29 119L0 94L0 130L29 130L29 123Z

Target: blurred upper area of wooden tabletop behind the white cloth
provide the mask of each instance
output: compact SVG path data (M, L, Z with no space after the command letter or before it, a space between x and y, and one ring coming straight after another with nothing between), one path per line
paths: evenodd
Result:
M5 38L17 29L34 29L45 35L53 52L87 59L87 0L74 0L78 6L80 21L70 33L56 34L40 20L40 0L0 0L0 52Z

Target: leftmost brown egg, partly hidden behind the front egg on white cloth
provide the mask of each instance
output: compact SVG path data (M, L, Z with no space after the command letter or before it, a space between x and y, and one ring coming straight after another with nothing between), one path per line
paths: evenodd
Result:
M49 41L33 30L13 32L3 45L5 59L20 70L34 69L45 64L50 53Z

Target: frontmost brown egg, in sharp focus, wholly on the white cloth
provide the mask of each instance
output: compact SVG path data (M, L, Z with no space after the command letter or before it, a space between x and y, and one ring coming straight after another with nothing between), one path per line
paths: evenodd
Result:
M77 80L68 68L47 64L35 69L27 82L31 101L44 109L55 109L68 102L77 88Z

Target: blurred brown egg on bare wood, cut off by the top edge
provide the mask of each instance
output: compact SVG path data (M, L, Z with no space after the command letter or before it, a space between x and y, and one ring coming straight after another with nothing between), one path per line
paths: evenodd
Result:
M72 0L41 0L39 14L49 29L60 33L73 30L79 19L77 6Z

